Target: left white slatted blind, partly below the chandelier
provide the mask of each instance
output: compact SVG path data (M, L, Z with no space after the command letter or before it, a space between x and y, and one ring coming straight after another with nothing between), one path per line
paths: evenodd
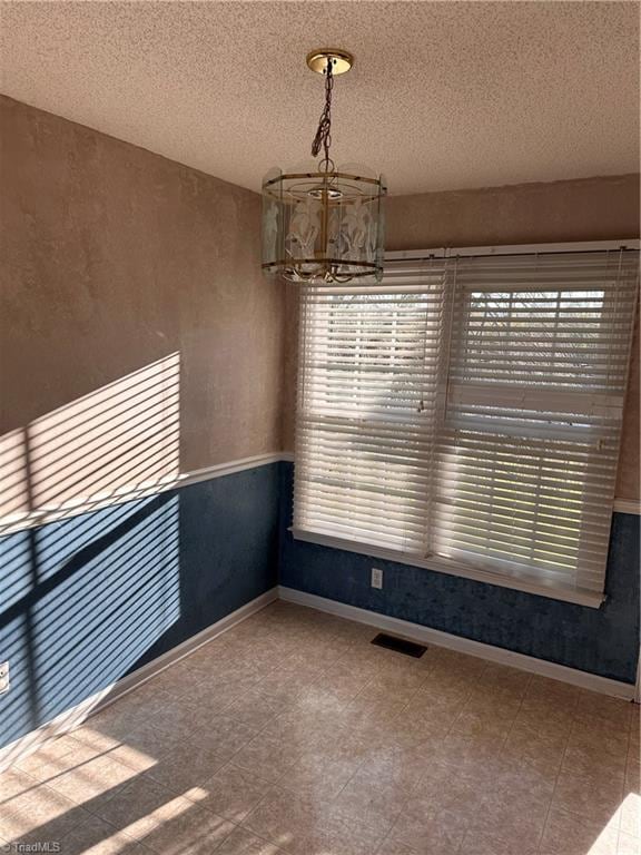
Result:
M444 262L303 298L295 525L423 554Z

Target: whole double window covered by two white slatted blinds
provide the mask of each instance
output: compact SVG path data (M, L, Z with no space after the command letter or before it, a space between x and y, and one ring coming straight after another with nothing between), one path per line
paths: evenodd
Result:
M307 289L295 534L598 601L637 281L573 252Z

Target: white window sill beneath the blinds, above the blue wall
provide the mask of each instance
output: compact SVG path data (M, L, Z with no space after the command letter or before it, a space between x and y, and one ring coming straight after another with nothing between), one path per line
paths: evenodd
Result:
M334 549L343 549L347 552L357 552L362 556L371 556L372 558L382 558L387 561L394 561L398 564L410 564L411 567L420 567L425 570L433 570L437 573L447 573L448 576L458 576L464 579L472 579L476 582L484 582L485 584L494 584L501 588L512 588L516 591L524 591L525 593L533 593L538 597L548 597L551 600L562 600L563 602L572 602L578 606L588 606L591 609L598 609L603 602L605 602L605 594L595 591L578 591L573 589L564 589L551 587L542 583L539 580L527 580L524 578L516 578L511 576L502 576L500 573L492 573L486 570L477 570L465 564L451 561L446 558L420 558L417 556L411 556L405 552L396 552L392 549L384 549L383 547L375 547L369 543L358 543L356 541L343 540L342 538L334 538L329 534L320 534L319 532L305 531L304 529L290 528L295 540L306 541L307 543L316 543L320 547L332 547Z

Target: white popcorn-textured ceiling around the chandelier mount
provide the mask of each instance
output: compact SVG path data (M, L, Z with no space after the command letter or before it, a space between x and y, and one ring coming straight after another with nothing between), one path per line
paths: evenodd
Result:
M637 2L4 2L1 89L253 189L305 160L337 78L334 157L392 193L639 169Z

